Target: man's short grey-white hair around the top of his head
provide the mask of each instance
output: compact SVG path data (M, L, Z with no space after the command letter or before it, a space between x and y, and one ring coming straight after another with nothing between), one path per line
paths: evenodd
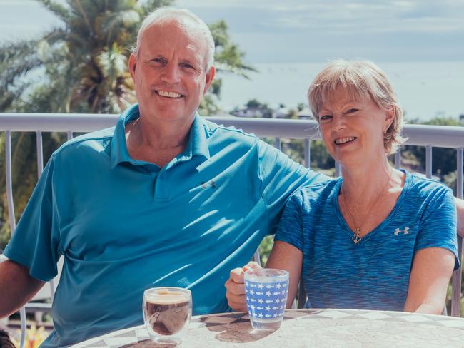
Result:
M213 66L214 63L214 39L213 34L208 28L208 25L202 21L196 14L193 12L188 11L187 9L176 9L174 7L160 7L155 11L148 14L145 19L143 19L142 25L140 29L138 29L137 34L137 44L136 48L133 49L133 53L138 56L138 50L140 49L141 38L143 31L155 24L158 21L165 21L166 19L188 19L194 24L194 28L198 30L203 38L206 41L206 48L207 48L207 56L206 56L206 71Z

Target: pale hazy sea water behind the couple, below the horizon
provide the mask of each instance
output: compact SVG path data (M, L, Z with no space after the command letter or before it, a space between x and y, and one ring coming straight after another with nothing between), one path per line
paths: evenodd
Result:
M321 71L321 63L257 63L258 73L249 73L249 80L226 73L223 79L221 107L231 111L256 98L270 106L295 108L306 104L308 86ZM435 116L458 118L464 114L464 61L408 61L378 63L388 74L405 109L406 119L422 121Z

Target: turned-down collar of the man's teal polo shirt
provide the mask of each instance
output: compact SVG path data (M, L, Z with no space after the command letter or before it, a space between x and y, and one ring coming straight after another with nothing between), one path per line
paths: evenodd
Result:
M118 118L116 127L114 128L113 139L111 140L111 169L115 168L116 165L122 162L129 162L134 165L147 164L141 160L133 160L128 153L126 144L126 123L135 120L140 117L140 111L138 110L138 104L134 104L130 108L127 108L121 117ZM190 128L190 134L188 136L188 143L174 161L190 160L194 155L201 155L206 160L210 160L210 153L208 148L208 142L206 140L206 130L203 125L201 117L196 113L193 124Z

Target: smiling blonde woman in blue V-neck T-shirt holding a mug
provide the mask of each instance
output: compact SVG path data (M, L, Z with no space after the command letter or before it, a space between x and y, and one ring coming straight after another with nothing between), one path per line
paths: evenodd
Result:
M309 105L342 177L289 198L266 267L290 272L287 307L302 277L308 307L440 314L458 267L453 193L396 170L403 111L388 77L369 61L333 61L316 76ZM226 282L246 311L243 270Z

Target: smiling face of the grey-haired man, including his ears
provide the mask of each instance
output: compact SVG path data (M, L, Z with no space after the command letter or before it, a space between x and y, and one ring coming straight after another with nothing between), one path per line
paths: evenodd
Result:
M141 116L151 123L191 123L213 81L206 40L188 28L176 21L148 26L129 61Z

